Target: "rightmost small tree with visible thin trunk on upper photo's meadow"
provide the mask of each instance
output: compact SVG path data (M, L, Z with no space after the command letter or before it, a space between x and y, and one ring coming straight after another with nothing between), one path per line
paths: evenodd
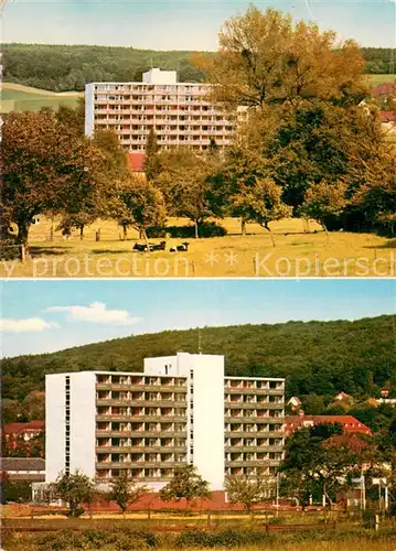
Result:
M319 222L325 231L327 238L329 238L329 233L325 220L328 217L338 216L343 212L347 203L345 191L344 182L330 185L322 180L318 184L312 183L306 192L300 212Z

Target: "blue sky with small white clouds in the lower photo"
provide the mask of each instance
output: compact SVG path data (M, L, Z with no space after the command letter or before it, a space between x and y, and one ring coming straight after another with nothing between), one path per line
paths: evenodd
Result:
M164 329L396 314L395 280L4 280L4 356Z

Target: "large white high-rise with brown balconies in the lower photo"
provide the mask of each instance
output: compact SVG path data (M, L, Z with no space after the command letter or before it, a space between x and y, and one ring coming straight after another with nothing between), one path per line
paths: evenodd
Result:
M79 469L97 483L127 471L152 489L193 463L224 476L264 476L283 454L285 379L226 377L224 356L145 359L143 372L46 376L45 482Z

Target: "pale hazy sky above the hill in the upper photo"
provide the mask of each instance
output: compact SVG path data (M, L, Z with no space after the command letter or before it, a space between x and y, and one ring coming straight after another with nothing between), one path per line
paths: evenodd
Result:
M105 44L156 50L215 50L222 23L239 0L8 0L3 41ZM396 45L396 0L272 0L296 19L335 30L366 46Z

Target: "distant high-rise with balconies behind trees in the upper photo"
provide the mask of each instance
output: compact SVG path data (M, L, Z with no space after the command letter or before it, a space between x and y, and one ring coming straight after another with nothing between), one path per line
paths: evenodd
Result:
M154 129L160 149L204 150L232 142L233 123L207 100L210 85L178 83L175 71L152 68L141 83L92 83L85 87L85 133L114 129L127 152L142 154Z

